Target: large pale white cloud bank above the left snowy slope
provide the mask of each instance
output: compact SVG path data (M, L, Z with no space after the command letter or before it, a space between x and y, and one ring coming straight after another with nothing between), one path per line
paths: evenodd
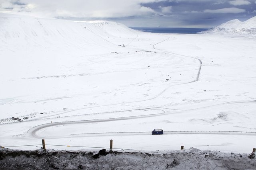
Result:
M0 12L39 17L120 18L157 14L143 3L166 0L0 0Z

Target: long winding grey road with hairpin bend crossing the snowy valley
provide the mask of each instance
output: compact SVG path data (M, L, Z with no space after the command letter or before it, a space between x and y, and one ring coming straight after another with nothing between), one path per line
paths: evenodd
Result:
M134 38L136 39L138 37L138 35ZM132 39L132 41L134 40ZM27 131L28 135L34 138L38 138L41 139L42 136L37 135L37 132L46 128L46 127L53 127L53 126L59 126L59 125L70 125L70 124L84 124L84 123L102 123L102 122L108 122L108 121L122 121L122 120L132 120L132 119L139 119L139 118L145 118L145 117L156 117L156 116L161 116L161 115L167 115L167 114L176 114L176 113L181 113L183 111L191 111L191 110L196 110L196 109L201 109L201 108L206 108L206 107L214 107L214 106L218 106L218 105L226 105L226 104L235 104L235 103L250 103L252 101L235 101L235 102L226 102L226 103L222 103L222 104L216 104L216 105L212 105L212 106L206 106L206 107L199 107L196 109L188 109L188 110L179 110L179 109L171 109L171 108L162 108L162 107L149 107L149 108L144 108L144 109L131 109L131 110L122 110L122 111L108 111L108 112L99 112L99 113L88 113L88 114L80 114L80 115L72 115L72 116L63 116L63 117L53 117L56 115L61 115L64 113L69 113L72 111L76 111L76 110L82 110L82 109L88 109L88 108L94 108L94 107L104 107L104 106L115 106L115 105L120 105L120 104L131 104L131 103L136 103L136 102L145 102L145 101L149 101L149 100L153 100L155 98L158 98L159 96L161 96L164 92L166 92L166 90L168 90L170 87L172 86L179 86L182 84L189 84L189 83L193 83L199 80L200 77L200 71L202 68L202 61L198 58L195 57L191 57L191 56L186 56L186 55L180 55L180 54L176 54L176 53L171 53L169 51L164 51L161 49L157 49L156 45L159 45L160 43L167 41L168 39L170 39L170 37L152 45L152 47L161 52L161 53L167 53L170 55L176 55L178 57L182 57L182 58L192 58L195 59L196 61L198 61L198 72L196 75L196 78L194 80L191 80L189 82L184 82L184 83L180 83L180 84L174 84L174 85L170 85L167 88L165 88L164 90L162 90L160 93L158 93L156 96L146 99L146 100L138 100L138 101L132 101L132 102L122 102L122 103L116 103L116 104L110 104L110 105L103 105L103 106L93 106L93 107L85 107L85 108L80 108L80 109L73 109L70 111L64 111L62 113L58 113L58 114L54 114L51 116L46 116L46 117L41 117L38 119L33 119L30 121L39 121L39 120L48 120L48 119L61 119L61 118L71 118L71 117L79 117L79 116L86 116L86 115L97 115L97 114L108 114L108 113L121 113L121 112L125 112L125 111L156 111L158 113L152 113L152 114L143 114L143 115L134 115L134 116L124 116L124 117L112 117L112 118L107 118L107 119L85 119L85 120L78 120L78 121L59 121L59 122L54 122L54 123L46 123L46 124L42 124L42 125L37 125L35 127L32 127L31 129L29 129ZM132 41L130 43L132 43ZM129 43L129 44L130 44ZM170 111L172 110L172 111ZM26 122L26 121L24 121ZM106 132L106 133L73 133L70 135L67 135L65 137L54 137L55 138L68 138L68 137L101 137L101 136L116 136L116 135L150 135L150 131L144 132L144 131L137 131L137 132ZM231 135L256 135L255 132L243 132L243 131L165 131L164 135L172 135L172 134L231 134ZM51 137L47 137L44 136L44 138L51 138Z

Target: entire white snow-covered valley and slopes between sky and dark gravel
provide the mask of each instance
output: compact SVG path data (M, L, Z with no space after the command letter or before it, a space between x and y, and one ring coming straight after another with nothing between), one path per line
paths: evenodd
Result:
M9 14L0 23L3 147L40 149L41 139L66 150L107 149L110 139L134 150L255 147L254 34L144 33Z

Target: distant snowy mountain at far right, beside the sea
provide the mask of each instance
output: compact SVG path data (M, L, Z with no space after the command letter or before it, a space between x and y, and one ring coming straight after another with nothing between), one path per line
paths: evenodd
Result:
M235 19L222 23L208 31L208 33L236 33L236 34L254 34L256 35L256 16L244 22Z

